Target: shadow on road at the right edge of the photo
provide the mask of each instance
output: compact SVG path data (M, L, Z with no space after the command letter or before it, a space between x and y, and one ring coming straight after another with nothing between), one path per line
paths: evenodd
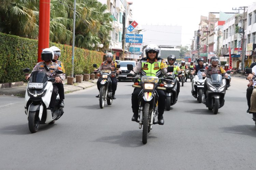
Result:
M252 124L254 122L252 121ZM256 127L255 125L234 125L230 127L223 127L221 128L223 130L223 133L233 133L233 134L239 134L239 135L248 135L252 137L256 137Z

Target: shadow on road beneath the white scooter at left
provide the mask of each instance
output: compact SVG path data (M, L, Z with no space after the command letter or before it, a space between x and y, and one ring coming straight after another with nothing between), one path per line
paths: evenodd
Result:
M39 130L37 133L40 131L45 131L50 128L55 126L55 124L40 124L39 125ZM28 135L31 134L31 132L28 129L28 124L19 124L19 125L10 125L10 126L5 126L0 129L0 134L3 135Z

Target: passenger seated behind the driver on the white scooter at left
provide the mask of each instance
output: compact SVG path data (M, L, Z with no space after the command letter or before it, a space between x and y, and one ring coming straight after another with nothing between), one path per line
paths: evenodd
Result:
M57 63L60 67L61 67L61 70L63 71L63 76L64 78L66 78L66 71L64 69L64 65L61 61L59 61L59 57L60 57L60 49L56 46L52 46L50 47L50 49L53 50L54 52L54 58L53 58L53 62L54 63ZM58 87L58 91L59 91L59 99L60 99L60 103L59 103L59 106L60 107L64 107L64 99L65 99L65 96L64 96L64 86L63 86L63 83L56 83L57 87Z

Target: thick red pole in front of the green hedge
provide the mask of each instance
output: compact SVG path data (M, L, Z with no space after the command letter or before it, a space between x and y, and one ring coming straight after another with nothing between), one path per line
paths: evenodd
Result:
M38 35L38 58L41 62L41 52L44 48L49 48L50 35L50 2L51 0L39 1L39 35Z

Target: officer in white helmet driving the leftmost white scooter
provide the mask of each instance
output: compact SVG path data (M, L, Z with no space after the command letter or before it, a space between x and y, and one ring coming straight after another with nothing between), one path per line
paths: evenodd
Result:
M51 74L55 73L57 70L61 70L61 67L58 64L52 62L53 59L54 59L53 50L49 49L49 48L43 49L43 51L41 53L41 60L43 62L37 63L35 65L35 67L33 68L32 72L33 71L43 71L47 74L47 77L50 77ZM27 80L30 78L30 75L31 74L26 76ZM56 100L57 92L58 92L57 84L62 84L62 80L64 80L65 77L63 74L55 74L55 75L52 75L52 77L55 78L55 83L53 83L53 92L52 92L52 97L51 97L49 107L51 108L51 111L53 112L55 100Z

